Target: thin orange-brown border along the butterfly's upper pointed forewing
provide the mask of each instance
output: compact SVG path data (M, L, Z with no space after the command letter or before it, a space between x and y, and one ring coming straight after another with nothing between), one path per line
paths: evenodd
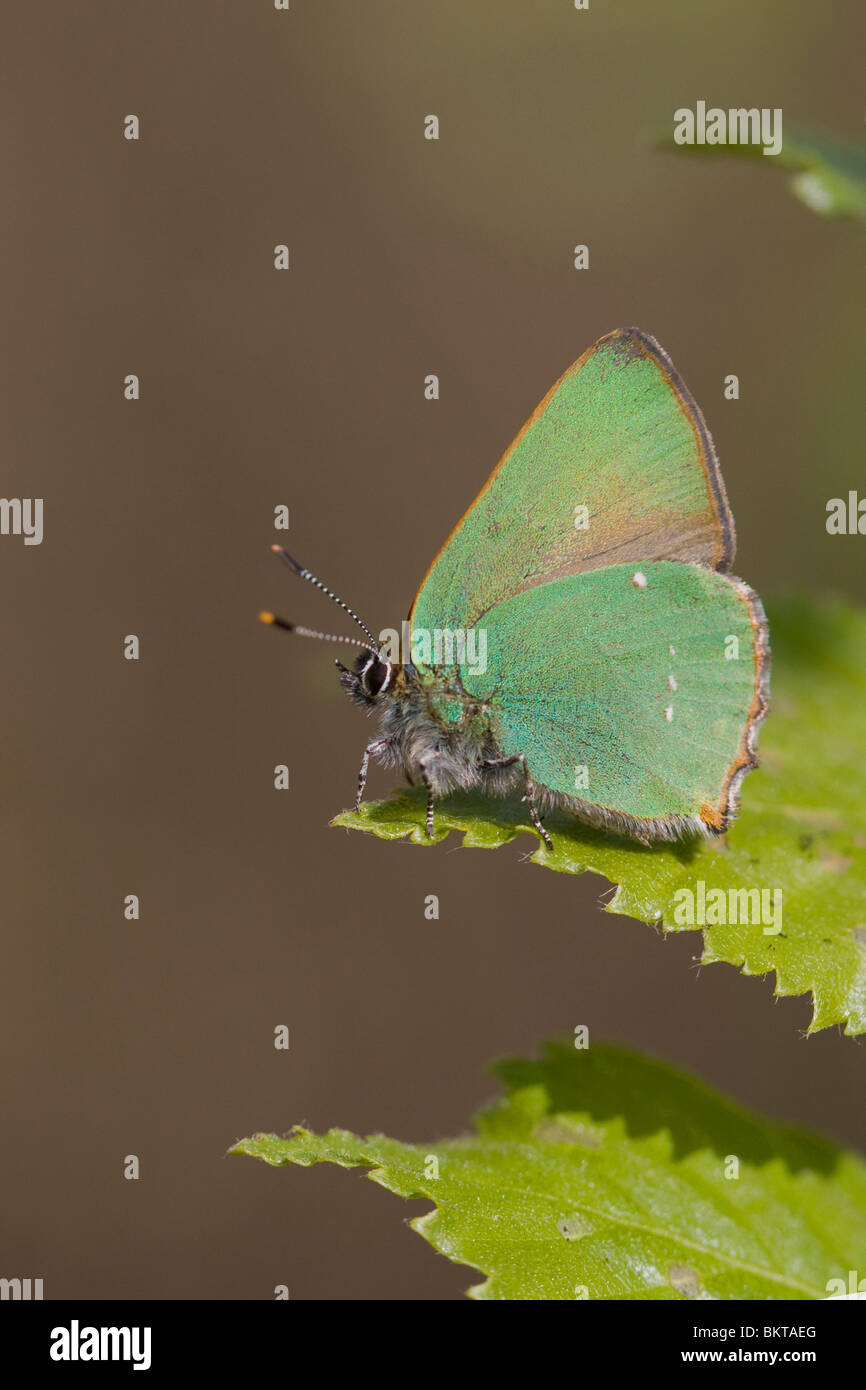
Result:
M713 445L712 435L710 435L709 430L706 428L706 421L705 421L705 418L703 418L703 416L701 413L701 407L698 406L698 403L696 403L695 398L692 396L691 391L688 389L688 386L683 381L683 377L680 375L680 373L674 367L673 361L670 360L670 357L667 356L667 353L664 352L664 349L662 348L662 345L659 342L656 342L656 339L652 336L652 334L645 334L642 328L614 328L612 332L603 334L601 338L596 338L596 341L589 348L587 348L587 350L584 353L581 353L581 356L575 361L573 361L570 367L566 367L566 370L563 371L562 377L556 378L556 381L553 382L553 385L550 386L550 389L546 392L546 395L538 402L538 404L535 406L535 410L532 411L532 414L530 416L530 418L524 423L523 428L517 431L517 434L514 435L514 438L509 443L507 449L505 450L505 453L499 459L499 463L496 464L496 467L491 473L489 478L487 480L487 482L484 484L484 486L481 488L481 491L473 498L473 500L466 507L466 510L463 512L463 514L460 516L460 518L450 528L450 531L448 532L448 537L445 538L445 541L442 542L442 545L436 550L436 553L432 557L431 563L427 566L427 570L424 573L424 578L418 584L418 588L416 591L416 596L411 600L411 607L409 610L409 620L410 621L411 621L411 616L413 616L413 613L416 610L416 605L418 602L421 591L423 591L424 585L427 584L430 575L432 574L434 569L439 563L442 555L445 553L445 550L448 550L448 546L450 545L453 537L457 534L457 531L460 530L460 527L466 521L466 518L470 514L470 512L475 507L475 505L484 496L484 493L489 488L489 485L493 481L493 478L496 477L496 474L500 471L500 468L505 467L505 464L507 463L509 457L512 456L512 453L514 452L514 449L517 448L517 445L520 443L520 441L525 435L527 430L531 425L534 425L535 421L538 420L538 417L546 410L546 407L548 407L552 396L556 395L556 392L562 386L563 381L566 381L566 378L570 377L573 373L580 371L580 368L584 366L584 363L587 361L587 359L591 357L592 353L596 352L596 349L601 348L602 343L610 342L614 338L632 338L632 339L638 341L638 343L641 345L642 350L648 356L651 356L653 359L653 361L662 368L662 371L664 373L664 375L670 381L670 384L671 384L671 386L674 389L674 393L676 393L676 396L677 396L677 399L680 402L680 409L683 410L683 414L687 417L688 423L691 424L692 430L695 431L695 439L698 442L698 452L699 452L699 457L701 457L701 467L703 468L703 474L706 477L706 482L708 482L708 489L709 489L710 499L714 503L716 520L719 521L719 530L720 530L720 535L721 535L720 546L719 546L719 555L716 557L714 569L720 574L726 574L730 570L731 564L734 563L734 553L735 553L735 549L737 549L737 534L734 531L734 517L731 514L731 509L730 509L730 505L728 505L728 500L727 500L727 492L726 492L726 488L724 488L724 478L721 477L721 468L719 467L719 459L716 456L716 448Z

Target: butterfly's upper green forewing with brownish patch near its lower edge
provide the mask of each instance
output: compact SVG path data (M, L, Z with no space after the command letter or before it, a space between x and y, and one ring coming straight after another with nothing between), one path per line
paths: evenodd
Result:
M701 411L653 338L617 329L527 421L436 556L410 620L467 628L566 574L631 560L728 570L733 559L734 523Z

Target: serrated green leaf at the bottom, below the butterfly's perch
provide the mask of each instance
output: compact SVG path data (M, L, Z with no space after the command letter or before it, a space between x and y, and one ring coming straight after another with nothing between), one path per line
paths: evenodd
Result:
M410 1225L488 1276L474 1298L824 1298L866 1269L856 1155L621 1048L555 1042L495 1070L507 1094L473 1137L295 1129L231 1152L368 1168L430 1198Z

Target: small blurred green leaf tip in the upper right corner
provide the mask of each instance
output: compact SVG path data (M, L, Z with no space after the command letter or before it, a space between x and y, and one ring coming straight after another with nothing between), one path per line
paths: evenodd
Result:
M759 158L773 168L794 170L792 192L823 217L853 217L866 222L866 149L851 140L808 131L785 132L778 154L765 156L760 145L674 145L666 135L664 149L684 154Z

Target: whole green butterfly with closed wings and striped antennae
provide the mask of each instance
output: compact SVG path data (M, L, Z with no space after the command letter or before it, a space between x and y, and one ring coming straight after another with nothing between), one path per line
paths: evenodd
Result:
M378 714L364 749L435 802L521 791L548 848L555 808L641 844L721 834L758 766L770 648L735 578L734 518L701 410L638 328L601 338L556 382L427 571L409 619L361 627L336 662Z

